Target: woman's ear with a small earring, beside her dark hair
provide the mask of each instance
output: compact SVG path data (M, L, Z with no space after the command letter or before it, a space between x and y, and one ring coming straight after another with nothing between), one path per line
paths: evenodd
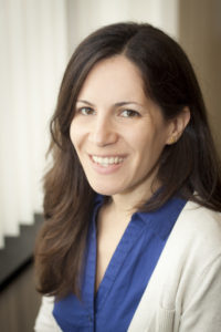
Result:
M176 143L182 135L186 126L190 121L190 110L185 107L175 118L171 120L170 133L166 144Z

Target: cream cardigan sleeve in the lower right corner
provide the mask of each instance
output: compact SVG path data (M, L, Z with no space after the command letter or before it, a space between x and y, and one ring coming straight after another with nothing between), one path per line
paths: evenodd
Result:
M179 332L221 331L221 255L196 282L192 299L180 318Z

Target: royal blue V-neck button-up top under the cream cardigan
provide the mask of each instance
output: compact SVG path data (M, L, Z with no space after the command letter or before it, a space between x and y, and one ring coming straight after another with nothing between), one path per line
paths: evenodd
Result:
M55 302L53 315L64 332L127 331L168 236L186 200L172 198L152 212L133 215L95 293L96 199L88 231L82 300L74 294Z

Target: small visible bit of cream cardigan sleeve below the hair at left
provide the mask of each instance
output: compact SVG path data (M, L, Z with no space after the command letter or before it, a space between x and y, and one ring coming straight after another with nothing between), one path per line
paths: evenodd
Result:
M54 298L42 297L42 303L34 324L35 332L61 332L62 331L52 314L53 308L54 308Z

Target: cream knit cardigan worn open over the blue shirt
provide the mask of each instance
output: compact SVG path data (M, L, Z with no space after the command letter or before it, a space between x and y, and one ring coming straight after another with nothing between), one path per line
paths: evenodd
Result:
M43 297L36 332L61 331L52 310ZM128 331L221 332L221 214L186 205Z

